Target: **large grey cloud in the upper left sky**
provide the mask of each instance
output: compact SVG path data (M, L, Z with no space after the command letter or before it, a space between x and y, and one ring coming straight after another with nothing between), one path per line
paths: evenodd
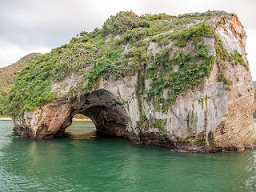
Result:
M0 24L4 26L0 39L22 46L60 46L79 30L102 25L102 21L94 21L97 17L93 10L79 8L78 1L6 1L0 2L0 7L5 9L0 11Z

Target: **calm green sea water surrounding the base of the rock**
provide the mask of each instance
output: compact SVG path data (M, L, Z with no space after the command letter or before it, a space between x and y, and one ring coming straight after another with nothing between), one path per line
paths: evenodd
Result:
M97 134L21 138L0 121L0 191L256 191L256 150L181 154Z

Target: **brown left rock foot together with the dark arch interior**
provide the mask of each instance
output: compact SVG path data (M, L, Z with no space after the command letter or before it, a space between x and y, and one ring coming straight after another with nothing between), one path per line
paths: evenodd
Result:
M94 122L96 130L117 136L128 135L126 126L130 118L122 106L122 101L109 90L94 90L70 100L63 100L38 108L28 114L36 116L29 126L15 126L14 131L28 138L52 138L62 136L72 124L75 114L84 114ZM26 130L26 131L24 131ZM26 133L26 134L24 134Z

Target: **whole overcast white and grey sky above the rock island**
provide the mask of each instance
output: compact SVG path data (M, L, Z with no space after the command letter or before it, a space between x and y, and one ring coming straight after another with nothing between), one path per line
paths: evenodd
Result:
M246 53L256 80L255 0L0 0L0 67L31 52L50 52L82 30L101 28L111 14L171 15L226 10L238 14L247 35Z

